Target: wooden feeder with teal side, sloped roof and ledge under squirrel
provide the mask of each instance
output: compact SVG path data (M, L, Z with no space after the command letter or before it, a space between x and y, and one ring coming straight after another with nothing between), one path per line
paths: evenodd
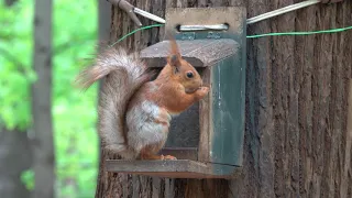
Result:
M108 160L108 172L169 178L231 178L241 169L245 22L245 8L239 7L166 10L166 33L176 36L183 58L197 68L206 85L211 86L210 92L172 121L167 143L161 153L174 155L177 161ZM228 28L195 30L213 24ZM141 56L150 67L161 69L166 64L168 50L168 41L162 41L143 50Z

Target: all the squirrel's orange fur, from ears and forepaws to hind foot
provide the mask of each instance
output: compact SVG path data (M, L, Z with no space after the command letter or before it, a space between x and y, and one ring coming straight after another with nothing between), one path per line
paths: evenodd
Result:
M194 74L193 78L187 78L189 72ZM146 100L155 102L161 109L166 109L170 114L178 114L208 94L209 88L201 86L200 75L182 58L176 42L172 40L167 64L154 81L147 82L141 88L141 92L145 94ZM155 120L155 123L161 122ZM143 160L175 160L176 157L169 155L155 155L164 146L164 143L146 145L141 151L141 157Z

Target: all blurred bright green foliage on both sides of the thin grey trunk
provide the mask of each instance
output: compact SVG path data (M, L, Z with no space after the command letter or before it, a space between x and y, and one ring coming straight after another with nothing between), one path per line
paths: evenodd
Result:
M96 0L53 4L53 121L57 197L94 197L98 168L97 85L82 92L74 78L95 53ZM8 129L31 128L33 0L7 7L0 0L0 120ZM22 175L33 188L31 170Z

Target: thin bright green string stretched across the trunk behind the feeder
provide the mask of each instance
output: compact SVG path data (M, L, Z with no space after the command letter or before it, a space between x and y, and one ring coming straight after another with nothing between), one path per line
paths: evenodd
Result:
M156 26L164 26L164 24L153 24L153 25L147 25L147 26L142 26L140 29L136 29L128 34L125 34L124 36L122 36L120 40L118 40L117 42L114 42L111 46L113 46L114 44L121 42L122 40L127 38L128 36L136 33L138 31L141 30L146 30L146 29L152 29L152 28L156 28ZM331 29L331 30L323 30L323 31L312 31L312 32L277 32L277 33L267 33L267 34L257 34L257 35L248 35L248 38L256 38L256 37L265 37L265 36L279 36L279 35L310 35L310 34L326 34L326 33L337 33L337 32L343 32L343 31L348 31L348 30L352 30L352 26L346 26L346 28L341 28L341 29Z

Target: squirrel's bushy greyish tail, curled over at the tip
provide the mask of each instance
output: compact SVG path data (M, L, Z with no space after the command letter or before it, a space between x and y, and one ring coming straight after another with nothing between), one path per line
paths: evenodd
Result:
M132 95L151 77L138 54L123 48L107 48L98 54L96 63L82 70L76 82L89 88L102 79L99 97L99 136L103 148L123 158L135 158L136 153L127 145L125 112Z

